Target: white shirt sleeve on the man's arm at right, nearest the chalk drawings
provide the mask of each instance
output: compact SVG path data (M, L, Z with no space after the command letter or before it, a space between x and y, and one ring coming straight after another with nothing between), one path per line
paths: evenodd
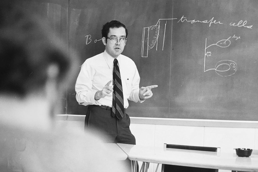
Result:
M132 89L131 89L131 94L130 94L129 100L134 101L136 103L137 102L142 103L145 101L145 99L140 100L140 98L139 98L139 90L140 90L139 84L140 84L140 75L138 73L136 65L134 64L134 76L132 79Z

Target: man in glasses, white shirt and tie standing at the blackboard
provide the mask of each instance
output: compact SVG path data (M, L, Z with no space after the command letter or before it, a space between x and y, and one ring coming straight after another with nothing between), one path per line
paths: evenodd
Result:
M121 54L127 35L125 25L119 21L103 25L105 51L85 60L75 91L79 104L89 105L85 130L93 128L104 133L106 142L136 144L126 114L128 99L142 103L153 96L151 89L157 85L139 89L140 76L135 63Z

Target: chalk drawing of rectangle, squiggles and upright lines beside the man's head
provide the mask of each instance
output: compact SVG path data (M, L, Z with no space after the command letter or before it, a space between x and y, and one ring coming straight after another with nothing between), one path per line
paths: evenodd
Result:
M173 19L159 19L156 25L144 27L142 30L142 49L141 57L148 57L148 50L156 47L158 49L158 40L163 42L162 50L164 48L165 34L167 26L172 26ZM170 23L171 22L171 23ZM163 35L163 38L162 38Z

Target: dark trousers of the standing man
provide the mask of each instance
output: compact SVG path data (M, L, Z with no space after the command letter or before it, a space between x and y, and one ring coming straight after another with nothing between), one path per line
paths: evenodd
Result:
M126 111L126 110L125 110ZM89 105L85 117L84 130L93 130L104 138L107 143L136 144L135 137L130 131L130 118L125 113L122 120L112 116L112 108L101 108L97 105ZM131 168L129 159L125 162L128 169ZM137 163L137 171L139 170Z

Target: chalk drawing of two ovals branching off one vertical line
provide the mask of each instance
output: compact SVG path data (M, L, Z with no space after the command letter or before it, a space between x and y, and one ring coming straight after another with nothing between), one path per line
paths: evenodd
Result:
M213 45L219 46L221 48L226 48L226 47L230 46L230 44L231 44L231 42L229 40L230 38L231 38L231 36L226 40L220 40L216 44L211 44L209 46L207 46L207 38L206 38L206 40L205 40L205 55L204 55L204 72L207 72L207 71L210 71L210 70L215 70L215 72L222 77L228 77L228 76L231 76L234 73L236 73L237 65L236 65L236 62L234 62L232 60L220 60L215 65L215 68L205 69L206 57L210 58L212 56L212 52L206 51L206 50Z

